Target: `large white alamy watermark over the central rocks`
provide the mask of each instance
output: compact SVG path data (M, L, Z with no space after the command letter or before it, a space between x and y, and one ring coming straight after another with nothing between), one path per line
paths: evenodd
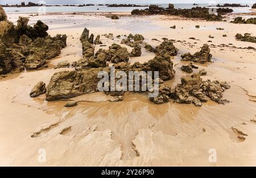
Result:
M154 77L153 77L154 74ZM159 72L158 71L118 71L110 67L110 75L106 71L100 71L97 75L101 80L97 84L99 91L104 92L146 92L148 97L157 97L159 93ZM103 77L103 78L102 78ZM154 85L153 85L154 83Z

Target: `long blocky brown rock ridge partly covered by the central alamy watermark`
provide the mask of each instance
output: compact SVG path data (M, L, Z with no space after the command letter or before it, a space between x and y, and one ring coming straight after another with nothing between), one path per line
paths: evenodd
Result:
M148 63L135 63L130 65L126 62L114 65L117 70L125 71L159 71L161 80L170 80L174 77L175 71L170 56L156 56ZM81 94L97 92L97 83L100 78L97 77L98 72L110 72L109 67L105 68L86 68L79 71L57 72L51 77L51 81L47 86L46 100L67 99ZM122 96L124 92L111 92L112 96Z

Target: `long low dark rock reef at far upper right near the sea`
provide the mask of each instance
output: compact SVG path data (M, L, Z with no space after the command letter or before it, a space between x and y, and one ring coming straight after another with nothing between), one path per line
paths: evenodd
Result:
M222 16L220 14L209 14L209 9L207 7L192 7L191 9L174 9L167 7L159 7L157 5L150 5L148 9L139 10L135 9L131 11L131 15L178 15L187 18L204 18L208 21L220 21Z

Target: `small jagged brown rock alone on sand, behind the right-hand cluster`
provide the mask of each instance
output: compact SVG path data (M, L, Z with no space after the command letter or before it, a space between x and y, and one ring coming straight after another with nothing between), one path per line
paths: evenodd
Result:
M185 53L181 55L181 60L183 61L193 61L195 63L207 63L210 62L210 59L212 58L212 55L210 54L210 48L208 44L204 44L203 47L201 47L201 51L196 52L194 55L191 55L191 53Z

